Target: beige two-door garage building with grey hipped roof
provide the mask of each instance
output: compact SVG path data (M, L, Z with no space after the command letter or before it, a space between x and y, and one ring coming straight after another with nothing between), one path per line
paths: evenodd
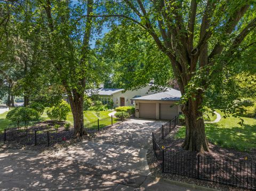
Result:
M181 113L181 105L176 105L180 100L179 90L166 89L151 95L133 98L135 102L135 117L146 119L173 119Z

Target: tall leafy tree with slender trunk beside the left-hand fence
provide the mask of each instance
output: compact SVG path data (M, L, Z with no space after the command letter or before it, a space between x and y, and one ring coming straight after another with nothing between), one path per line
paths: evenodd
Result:
M92 15L96 5L93 0L81 1L78 5L71 1L38 2L41 27L47 38L49 73L65 88L78 135L84 131L85 89L94 87L104 71L90 48L93 26L98 26L97 22L92 17L83 17Z

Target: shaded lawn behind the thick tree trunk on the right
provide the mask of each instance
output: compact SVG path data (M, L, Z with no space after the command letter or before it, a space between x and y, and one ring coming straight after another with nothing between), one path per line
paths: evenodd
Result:
M221 117L224 115L218 111ZM242 118L243 126L240 126L238 118L221 118L218 123L205 124L205 134L208 140L215 145L225 148L234 148L237 151L250 152L256 148L256 119ZM185 137L185 127L180 128L176 138Z

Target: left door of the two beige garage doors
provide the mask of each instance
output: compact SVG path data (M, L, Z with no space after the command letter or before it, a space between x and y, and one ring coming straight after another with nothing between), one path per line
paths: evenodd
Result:
M156 119L156 104L140 103L139 113L140 113L140 118Z

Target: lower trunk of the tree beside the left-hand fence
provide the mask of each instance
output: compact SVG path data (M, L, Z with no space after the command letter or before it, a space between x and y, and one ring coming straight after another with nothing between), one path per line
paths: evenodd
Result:
M84 95L73 92L73 97L69 96L71 111L74 119L74 130L77 136L84 134ZM81 131L82 130L82 131Z

